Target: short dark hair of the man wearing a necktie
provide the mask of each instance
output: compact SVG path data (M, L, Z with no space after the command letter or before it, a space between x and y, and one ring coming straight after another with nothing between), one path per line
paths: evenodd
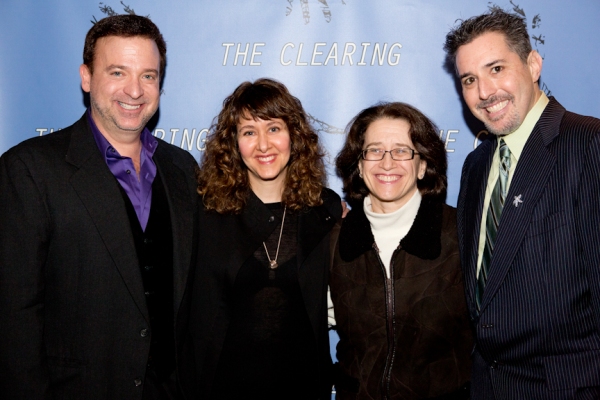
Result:
M464 20L458 27L451 29L446 35L444 50L456 65L458 48L488 32L503 34L508 47L519 55L521 61L527 62L527 57L531 53L531 40L527 33L525 18L500 8Z

